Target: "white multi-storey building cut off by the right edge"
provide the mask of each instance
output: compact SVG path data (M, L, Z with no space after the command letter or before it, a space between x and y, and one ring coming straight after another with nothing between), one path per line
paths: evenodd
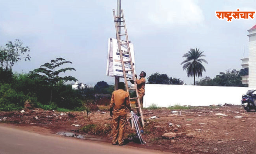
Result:
M249 45L248 52L249 58L243 58L242 67L249 69L249 74L242 76L242 83L249 84L249 87L256 87L256 25L248 30Z

